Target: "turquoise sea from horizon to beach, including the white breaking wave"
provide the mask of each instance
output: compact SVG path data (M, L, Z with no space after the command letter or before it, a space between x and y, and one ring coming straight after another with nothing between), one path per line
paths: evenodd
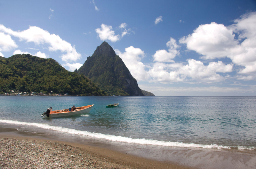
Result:
M115 102L118 107L106 108ZM48 107L89 104L94 108L81 116L41 117ZM256 149L256 96L0 96L1 124L132 144Z

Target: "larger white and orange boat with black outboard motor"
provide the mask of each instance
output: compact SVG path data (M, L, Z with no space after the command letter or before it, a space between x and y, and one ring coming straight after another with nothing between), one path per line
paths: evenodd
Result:
M84 113L89 113L93 106L94 106L94 104L88 105L88 106L77 107L76 108L77 110L75 110L75 111L71 111L71 108L52 111L52 107L50 107L41 116L44 117L46 115L49 118L53 118L53 117L81 115Z

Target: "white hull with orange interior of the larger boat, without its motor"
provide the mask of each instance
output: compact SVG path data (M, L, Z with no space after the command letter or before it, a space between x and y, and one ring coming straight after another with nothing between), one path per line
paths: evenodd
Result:
M49 114L49 118L75 116L75 115L89 113L93 106L94 106L94 104L88 105L88 106L83 106L83 107L77 107L76 108L77 111L69 111L68 109L51 111Z

